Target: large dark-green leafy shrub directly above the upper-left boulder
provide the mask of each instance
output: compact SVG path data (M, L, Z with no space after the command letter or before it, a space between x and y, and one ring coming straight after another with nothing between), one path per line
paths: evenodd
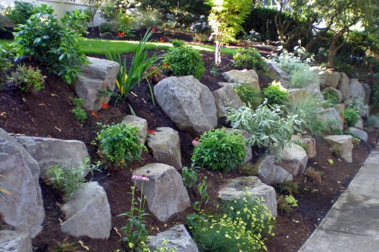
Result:
M35 58L71 84L79 65L87 63L77 44L81 35L67 27L64 18L57 20L51 7L41 5L35 11L25 25L15 28L15 60ZM85 19L84 13L77 13L76 20Z

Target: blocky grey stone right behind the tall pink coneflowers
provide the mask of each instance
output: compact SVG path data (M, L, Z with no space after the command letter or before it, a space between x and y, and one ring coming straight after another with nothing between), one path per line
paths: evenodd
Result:
M134 171L135 175L146 175L150 180L144 182L144 195L147 206L160 221L167 221L171 215L184 211L191 205L182 176L172 166L149 164ZM141 190L141 182L137 181Z

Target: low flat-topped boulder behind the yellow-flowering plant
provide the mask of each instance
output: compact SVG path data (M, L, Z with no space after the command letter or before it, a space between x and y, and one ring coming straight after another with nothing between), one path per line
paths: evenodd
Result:
M218 191L218 196L223 201L233 201L246 193L250 193L254 198L261 199L263 197L263 203L270 210L272 216L277 217L278 204L275 189L262 183L259 177L249 176L226 179Z

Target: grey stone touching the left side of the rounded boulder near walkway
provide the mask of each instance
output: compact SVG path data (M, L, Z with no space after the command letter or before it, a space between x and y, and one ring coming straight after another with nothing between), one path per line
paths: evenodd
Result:
M275 165L273 156L263 154L254 164L261 181L267 185L291 181L293 176L283 168Z

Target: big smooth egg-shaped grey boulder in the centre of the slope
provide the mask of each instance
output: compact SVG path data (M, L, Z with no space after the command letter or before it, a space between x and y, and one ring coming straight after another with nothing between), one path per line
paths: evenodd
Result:
M154 86L162 110L184 131L201 134L217 125L215 100L193 76L169 77Z

